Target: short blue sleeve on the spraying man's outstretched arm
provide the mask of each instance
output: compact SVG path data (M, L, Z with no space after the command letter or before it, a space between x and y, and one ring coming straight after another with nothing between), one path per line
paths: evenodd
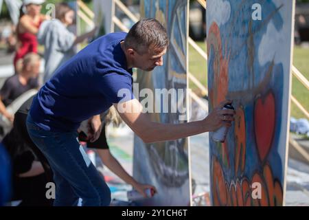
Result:
M126 102L134 98L133 79L124 74L105 74L98 80L101 94L111 103Z

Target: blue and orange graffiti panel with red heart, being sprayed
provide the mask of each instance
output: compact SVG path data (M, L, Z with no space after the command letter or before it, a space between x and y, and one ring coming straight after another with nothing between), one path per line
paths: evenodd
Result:
M214 206L282 206L294 1L208 0L209 107L233 100L224 143L209 135Z

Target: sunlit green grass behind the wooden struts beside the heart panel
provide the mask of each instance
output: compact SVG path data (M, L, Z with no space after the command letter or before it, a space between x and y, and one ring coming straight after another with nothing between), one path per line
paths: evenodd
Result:
M197 42L197 44L206 51L206 45L204 42ZM295 46L293 64L301 74L308 79L309 78L309 49ZM189 46L189 72L191 72L203 85L207 86L207 63L204 58ZM194 83L189 83L190 89L200 94L198 88ZM309 91L302 85L297 78L293 76L292 94L299 100L305 109L309 109ZM291 104L291 115L295 118L306 118L295 104Z

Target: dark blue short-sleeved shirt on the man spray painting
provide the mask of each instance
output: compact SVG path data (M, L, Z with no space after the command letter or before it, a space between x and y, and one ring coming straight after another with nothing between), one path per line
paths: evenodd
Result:
M59 67L34 98L32 120L46 131L76 131L83 120L132 99L132 69L120 47L125 37L106 34Z

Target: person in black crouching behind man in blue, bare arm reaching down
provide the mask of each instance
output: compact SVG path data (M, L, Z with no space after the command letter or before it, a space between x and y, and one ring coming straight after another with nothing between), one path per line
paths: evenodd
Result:
M32 142L26 129L27 114L33 98L34 96L28 98L18 111L16 111L13 129L8 135L5 135L2 142L12 160L11 200L21 201L18 206L52 206L54 200L47 199L45 196L47 190L46 184L53 182L52 169L45 155ZM155 187L141 184L131 177L111 154L108 147L105 126L110 123L119 126L121 122L121 118L112 107L108 113L102 114L102 123L104 123L104 126L99 139L95 142L90 142L87 140L87 134L80 131L79 140L81 143L87 142L87 148L96 149L100 159L108 169L146 197L146 188L152 188L156 191Z

